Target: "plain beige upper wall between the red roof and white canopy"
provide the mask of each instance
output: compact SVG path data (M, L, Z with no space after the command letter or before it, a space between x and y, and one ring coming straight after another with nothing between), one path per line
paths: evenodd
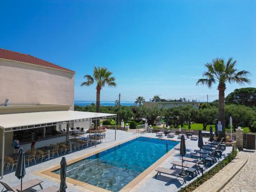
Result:
M0 59L0 104L69 104L74 110L74 73Z

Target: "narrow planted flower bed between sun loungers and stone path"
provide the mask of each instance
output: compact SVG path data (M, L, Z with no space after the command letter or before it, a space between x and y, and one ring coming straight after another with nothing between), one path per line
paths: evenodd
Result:
M226 166L228 163L230 163L238 154L238 151L236 148L234 148L234 151L227 156L223 161L218 163L215 167L210 169L208 172L204 173L204 176L197 178L195 181L192 183L188 184L185 187L182 187L178 192L190 192L195 190L197 187L202 185L205 181L209 180L212 176L217 174L224 166Z

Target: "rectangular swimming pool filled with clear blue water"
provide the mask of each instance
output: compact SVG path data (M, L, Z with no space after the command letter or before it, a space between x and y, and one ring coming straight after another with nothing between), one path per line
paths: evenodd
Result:
M178 141L138 137L67 166L67 177L119 191ZM59 174L60 170L53 173Z

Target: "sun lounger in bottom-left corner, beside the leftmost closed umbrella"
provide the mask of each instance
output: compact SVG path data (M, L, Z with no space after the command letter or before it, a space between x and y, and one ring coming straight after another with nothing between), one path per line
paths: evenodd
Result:
M28 189L31 189L37 185L39 185L42 189L42 186L41 186L41 183L43 181L42 180L39 180L39 179L33 179L33 180L30 180L30 181L27 181L27 182L24 182L22 184L22 190L25 191L25 190L28 190ZM10 187L8 184L0 181L0 183L2 185L4 185L4 187L6 188L6 190L2 190L2 192L5 192L5 191L13 191L13 192L19 192L21 189L20 189L20 185L17 185L15 187Z

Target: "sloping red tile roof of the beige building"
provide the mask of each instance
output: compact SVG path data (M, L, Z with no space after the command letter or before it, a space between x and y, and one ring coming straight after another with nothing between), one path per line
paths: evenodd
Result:
M0 48L0 58L14 60L14 61L20 61L20 62L26 62L26 63L30 63L30 64L37 65L37 66L48 67L48 68L53 68L53 69L58 69L58 70L75 73L74 71L57 66L51 62L48 62L48 61L45 61L42 59L38 59L31 55L27 55L24 53L18 53L18 52L14 52L14 51L2 49L2 48Z

